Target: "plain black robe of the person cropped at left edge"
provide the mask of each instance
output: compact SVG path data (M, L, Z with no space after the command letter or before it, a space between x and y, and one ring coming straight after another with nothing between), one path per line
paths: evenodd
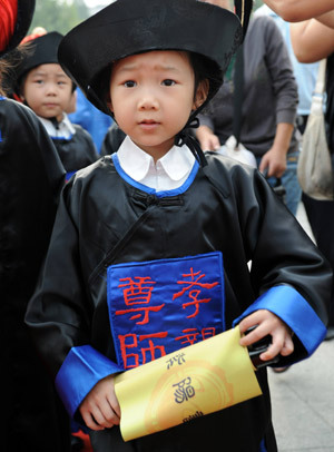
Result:
M69 420L24 324L65 170L33 112L0 98L1 450L66 452Z

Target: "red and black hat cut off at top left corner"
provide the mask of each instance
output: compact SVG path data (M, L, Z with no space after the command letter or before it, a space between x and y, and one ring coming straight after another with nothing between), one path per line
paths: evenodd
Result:
M35 11L35 0L0 2L0 58L24 38Z

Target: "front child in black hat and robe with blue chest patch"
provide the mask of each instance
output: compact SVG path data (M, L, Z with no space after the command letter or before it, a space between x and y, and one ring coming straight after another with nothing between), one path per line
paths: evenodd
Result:
M240 40L237 17L208 3L118 0L60 45L128 135L65 187L26 317L95 451L276 451L265 369L263 396L129 442L112 375L236 324L255 327L245 346L271 334L262 358L279 365L325 335L324 258L256 169L200 155L185 130Z

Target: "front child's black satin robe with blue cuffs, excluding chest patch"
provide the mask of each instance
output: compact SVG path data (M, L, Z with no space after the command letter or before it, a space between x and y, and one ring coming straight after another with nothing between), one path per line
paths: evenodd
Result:
M65 187L26 321L77 419L90 389L124 367L107 299L107 269L124 263L219 252L225 330L252 309L282 315L295 331L295 351L278 365L306 357L322 342L328 264L256 169L213 153L207 160L204 169L195 164L183 187L165 193L125 175L117 155ZM266 370L256 374L263 396L127 443L118 428L92 432L95 451L276 451Z

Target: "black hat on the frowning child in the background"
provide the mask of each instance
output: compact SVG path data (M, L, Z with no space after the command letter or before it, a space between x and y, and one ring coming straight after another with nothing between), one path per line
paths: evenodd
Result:
M22 61L16 68L17 80L40 65L59 63L58 47L61 39L62 35L51 31L29 41L29 51L24 53Z

